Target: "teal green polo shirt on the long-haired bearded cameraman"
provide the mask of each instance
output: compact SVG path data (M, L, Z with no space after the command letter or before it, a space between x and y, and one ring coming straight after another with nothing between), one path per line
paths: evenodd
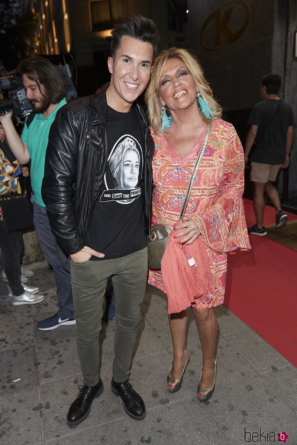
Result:
M45 152L49 142L49 129L56 117L57 111L65 105L66 99L62 99L48 117L43 118L42 114L36 114L29 125L24 125L21 140L27 144L27 149L31 158L31 185L34 192L34 202L45 207L41 198L41 184L45 174ZM27 121L27 118L26 118Z

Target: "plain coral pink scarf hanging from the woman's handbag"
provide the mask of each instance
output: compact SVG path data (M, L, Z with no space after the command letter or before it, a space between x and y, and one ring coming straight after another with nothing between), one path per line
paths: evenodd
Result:
M168 314L183 311L196 299L201 303L210 303L214 295L212 272L201 235L187 246L179 244L181 238L174 238L179 231L171 231L161 261ZM188 263L191 257L197 267Z

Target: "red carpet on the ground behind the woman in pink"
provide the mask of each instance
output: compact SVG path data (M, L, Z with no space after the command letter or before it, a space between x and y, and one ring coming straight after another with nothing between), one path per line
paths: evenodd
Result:
M251 200L244 199L244 211L252 226ZM264 225L273 223L275 210L265 206ZM228 255L224 305L297 367L297 252L264 236L250 235L250 242L251 251Z

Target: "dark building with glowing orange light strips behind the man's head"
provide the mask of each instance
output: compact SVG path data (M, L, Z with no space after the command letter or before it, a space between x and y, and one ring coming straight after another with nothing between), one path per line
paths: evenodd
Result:
M71 53L77 65L80 96L109 80L110 31L131 14L154 20L160 49L187 46L187 0L21 0L38 13L35 53L53 61Z

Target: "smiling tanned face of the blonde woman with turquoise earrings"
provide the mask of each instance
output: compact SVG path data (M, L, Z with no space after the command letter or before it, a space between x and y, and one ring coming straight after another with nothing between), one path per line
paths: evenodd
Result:
M187 109L196 101L195 81L181 59L169 59L159 81L159 96L162 105L171 110Z

